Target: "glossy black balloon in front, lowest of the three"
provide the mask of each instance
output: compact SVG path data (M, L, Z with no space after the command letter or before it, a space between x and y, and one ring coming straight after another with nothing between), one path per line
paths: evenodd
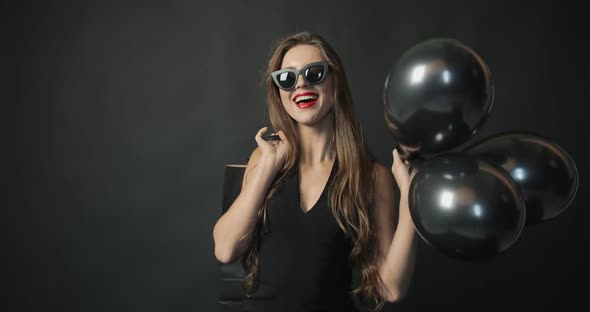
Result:
M460 154L424 161L409 189L417 233L461 260L485 260L511 247L525 224L518 185L502 169Z

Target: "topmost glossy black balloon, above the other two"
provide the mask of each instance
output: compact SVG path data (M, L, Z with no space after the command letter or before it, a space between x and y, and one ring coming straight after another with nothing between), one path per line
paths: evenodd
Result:
M385 124L403 158L437 153L467 141L488 118L493 98L482 57L455 39L435 38L408 49L387 75Z

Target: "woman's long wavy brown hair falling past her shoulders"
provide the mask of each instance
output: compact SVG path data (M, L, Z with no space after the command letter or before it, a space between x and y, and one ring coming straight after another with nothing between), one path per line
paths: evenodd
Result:
M267 88L267 112L272 127L281 129L289 138L291 149L269 190L262 209L258 215L257 228L254 231L250 248L242 258L246 271L246 294L256 288L258 274L258 234L266 222L266 202L284 179L297 170L300 159L300 140L296 122L287 114L281 103L279 90L275 86L271 73L280 69L283 57L291 48L298 45L311 45L318 48L328 61L330 73L334 79L333 142L336 147L338 171L329 189L329 201L332 214L344 234L351 239L352 251L350 261L360 266L361 284L353 294L360 294L363 300L372 298L376 309L384 305L383 282L377 267L376 237L373 228L373 164L371 154L362 135L361 126L356 117L348 81L344 68L335 50L321 36L300 32L279 41L271 55L265 75Z

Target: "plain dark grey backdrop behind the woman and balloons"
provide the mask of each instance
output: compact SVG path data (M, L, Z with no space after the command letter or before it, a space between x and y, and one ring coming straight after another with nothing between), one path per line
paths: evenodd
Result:
M340 53L386 165L395 142L380 92L390 65L448 36L479 51L494 75L492 115L475 138L537 132L580 171L573 204L493 261L459 262L421 244L409 296L387 311L584 304L587 14L564 1L474 3L48 1L5 11L17 42L8 62L22 155L14 209L26 216L14 231L19 310L215 311L224 165L246 161L265 123L271 44L301 30Z

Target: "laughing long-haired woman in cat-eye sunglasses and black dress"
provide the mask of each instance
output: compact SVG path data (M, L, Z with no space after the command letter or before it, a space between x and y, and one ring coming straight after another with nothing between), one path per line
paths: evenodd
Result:
M400 300L414 270L410 177L396 150L393 177L371 155L338 55L317 34L287 37L266 87L280 140L258 131L241 193L213 230L217 259L241 258L248 273L246 310L356 311L352 294L377 309Z

